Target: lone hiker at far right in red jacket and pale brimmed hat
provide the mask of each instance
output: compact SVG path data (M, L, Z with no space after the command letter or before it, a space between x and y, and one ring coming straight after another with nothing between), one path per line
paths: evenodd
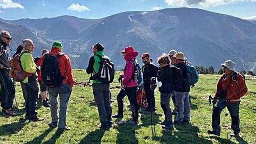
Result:
M212 128L208 130L209 134L219 136L221 132L220 127L220 114L221 111L227 107L231 116L231 128L234 131L235 137L239 136L239 105L241 97L243 97L248 88L243 75L235 71L235 63L231 60L225 61L221 64L224 74L219 79L217 90L214 97L214 108L212 113Z

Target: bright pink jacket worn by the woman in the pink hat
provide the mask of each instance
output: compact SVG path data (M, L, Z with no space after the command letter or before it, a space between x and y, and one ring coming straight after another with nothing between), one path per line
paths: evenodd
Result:
M122 79L124 88L138 86L137 81L134 81L132 79L132 76L134 74L134 63L131 60L133 60L136 56L138 56L137 51L127 53L127 55L125 56L126 64L125 64L124 74Z

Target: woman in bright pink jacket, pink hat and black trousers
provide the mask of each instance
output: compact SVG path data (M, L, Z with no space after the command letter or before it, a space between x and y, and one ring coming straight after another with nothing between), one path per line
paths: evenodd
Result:
M138 83L136 80L136 74L134 72L135 63L134 60L138 56L138 51L135 51L132 47L125 47L124 50L120 51L125 58L126 64L124 68L124 74L122 76L122 84L125 92L128 96L131 104L132 119L127 120L127 123L138 124L138 103L136 100L136 92Z

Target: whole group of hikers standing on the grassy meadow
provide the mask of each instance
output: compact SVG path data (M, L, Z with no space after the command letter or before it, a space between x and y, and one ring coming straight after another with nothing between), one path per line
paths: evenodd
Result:
M0 82L1 107L6 115L17 115L13 101L15 98L15 81L21 83L25 99L25 118L29 121L40 121L36 111L38 99L38 83L40 84L40 99L43 105L50 107L51 122L49 127L58 127L59 131L69 130L66 124L67 104L74 85L70 58L62 53L62 43L54 41L50 51L43 50L42 56L33 58L34 44L31 39L22 41L13 58L10 57L9 43L12 40L8 31L0 34ZM171 50L162 54L154 65L150 54L143 53L140 57L143 66L140 67L136 57L138 51L133 47L125 47L120 53L126 61L123 73L119 76L121 83L117 95L118 113L112 115L110 83L114 80L115 69L111 59L104 55L104 46L96 43L91 47L93 56L90 57L86 73L93 81L92 89L98 108L100 129L107 130L112 127L112 118L121 120L123 115L123 99L128 97L130 102L131 118L126 124L137 125L139 110L144 102L145 112L156 113L154 90L158 87L160 92L160 105L164 113L164 121L159 122L163 129L173 129L173 125L183 125L190 122L190 88L198 81L198 72L184 53ZM220 114L227 107L232 123L234 136L239 136L239 105L248 89L245 77L235 70L235 63L231 60L221 64L224 71L218 81L214 107L212 113L212 130L209 134L220 135ZM38 82L38 83L37 83ZM90 81L89 81L90 82ZM138 93L144 95L138 98ZM49 94L49 101L47 95ZM60 112L57 114L57 97L60 99ZM173 101L173 111L170 109L170 99ZM143 102L142 102L143 101ZM174 122L173 122L174 115Z

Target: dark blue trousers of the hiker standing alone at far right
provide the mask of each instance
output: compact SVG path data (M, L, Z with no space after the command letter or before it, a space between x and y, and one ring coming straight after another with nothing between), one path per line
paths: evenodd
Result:
M239 134L240 132L240 128L239 128L239 122L240 122L240 118L239 118L239 105L240 103L227 103L225 102L223 99L218 99L216 104L214 105L213 108L213 113L212 113L212 128L213 131L215 132L220 132L221 131L221 127L220 127L220 115L221 112L223 111L223 109L225 107L227 107L232 122L231 122L231 128L234 131L234 134Z

